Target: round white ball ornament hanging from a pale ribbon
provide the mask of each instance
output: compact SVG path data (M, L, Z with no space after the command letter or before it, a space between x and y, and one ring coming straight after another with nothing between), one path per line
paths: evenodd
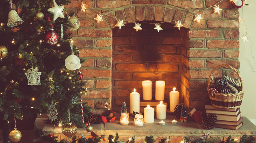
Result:
M73 40L72 39L69 40L69 44L70 44L70 47L71 47L71 50L72 50L72 54L65 59L65 66L68 70L74 71L74 70L79 69L82 64L80 63L79 57L74 55Z

